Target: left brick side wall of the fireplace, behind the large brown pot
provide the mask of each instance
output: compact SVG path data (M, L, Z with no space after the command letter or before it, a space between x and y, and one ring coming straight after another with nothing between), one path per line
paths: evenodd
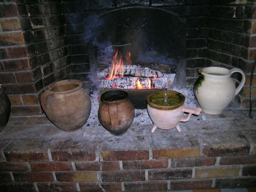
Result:
M70 76L63 24L58 1L0 3L0 83L12 115L42 114L44 88Z

